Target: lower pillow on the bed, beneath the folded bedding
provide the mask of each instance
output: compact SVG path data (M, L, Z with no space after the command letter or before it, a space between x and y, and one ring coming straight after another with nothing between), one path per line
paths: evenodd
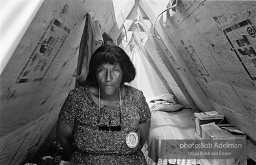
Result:
M150 108L150 111L162 111L162 112L176 112L178 110L183 110L184 106L180 104L155 104Z

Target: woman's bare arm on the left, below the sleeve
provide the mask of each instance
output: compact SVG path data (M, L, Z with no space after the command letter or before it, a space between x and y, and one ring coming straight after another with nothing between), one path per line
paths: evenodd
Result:
M67 160L70 159L70 157L75 151L75 148L72 145L73 133L74 133L74 127L68 126L65 122L61 121L61 119L58 120L57 137L59 139L61 147L63 148L65 154L67 155Z

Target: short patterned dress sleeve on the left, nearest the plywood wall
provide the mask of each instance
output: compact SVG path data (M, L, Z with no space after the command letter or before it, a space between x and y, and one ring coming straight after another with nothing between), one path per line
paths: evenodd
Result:
M74 99L74 93L69 92L61 110L59 112L59 119L65 122L68 126L73 127L76 119L76 99Z

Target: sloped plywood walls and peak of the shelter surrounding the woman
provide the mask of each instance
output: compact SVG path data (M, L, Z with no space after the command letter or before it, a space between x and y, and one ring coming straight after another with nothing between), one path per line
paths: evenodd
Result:
M131 57L137 74L130 86L146 98L169 93L193 112L219 112L247 136L244 154L256 161L256 1L1 0L0 6L0 164L35 162L50 148L59 110L78 81L81 37L96 33L95 24L97 36L109 34Z

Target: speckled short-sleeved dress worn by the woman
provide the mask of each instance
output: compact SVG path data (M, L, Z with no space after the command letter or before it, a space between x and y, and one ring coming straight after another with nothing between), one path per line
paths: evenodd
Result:
M70 91L59 113L59 119L75 128L73 145L76 151L70 165L147 164L139 150L138 125L151 119L143 93L125 85L125 97L120 108L111 111L99 108L92 100L88 86ZM99 124L121 126L121 130L100 130ZM134 148L126 142L131 132L138 135L138 145Z

